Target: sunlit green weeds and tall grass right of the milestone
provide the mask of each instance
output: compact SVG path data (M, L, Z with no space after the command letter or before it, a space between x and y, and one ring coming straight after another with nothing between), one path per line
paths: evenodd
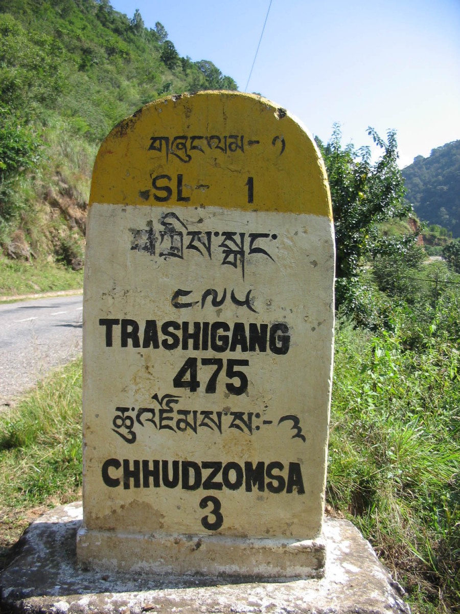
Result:
M459 291L457 291L459 295ZM415 348L413 312L372 335L336 331L328 500L353 519L419 612L454 612L460 597L460 353L438 305Z

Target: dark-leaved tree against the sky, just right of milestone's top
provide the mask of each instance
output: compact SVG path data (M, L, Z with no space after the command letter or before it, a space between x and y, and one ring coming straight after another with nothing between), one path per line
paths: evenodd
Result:
M331 188L338 305L356 289L359 272L367 260L382 254L401 255L415 242L414 234L389 239L379 231L381 222L403 219L412 207L404 202L404 179L397 166L395 131L388 131L386 142L373 128L368 128L367 133L382 150L375 163L371 160L370 147L355 149L351 143L342 146L338 124L334 125L326 146L316 139Z

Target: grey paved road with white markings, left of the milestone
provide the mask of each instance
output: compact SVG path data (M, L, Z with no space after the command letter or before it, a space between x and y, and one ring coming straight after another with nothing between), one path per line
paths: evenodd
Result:
M82 352L82 296L0 305L0 410Z

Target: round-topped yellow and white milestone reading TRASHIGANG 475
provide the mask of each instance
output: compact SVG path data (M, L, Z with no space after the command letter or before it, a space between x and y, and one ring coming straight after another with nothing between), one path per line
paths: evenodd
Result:
M156 101L99 150L83 565L321 575L334 321L323 163L285 109Z

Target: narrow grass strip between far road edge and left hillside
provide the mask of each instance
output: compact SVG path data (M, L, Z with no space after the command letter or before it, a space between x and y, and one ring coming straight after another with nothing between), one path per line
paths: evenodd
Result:
M0 256L0 297L76 290L83 287L83 270L73 271L47 260L33 264Z

